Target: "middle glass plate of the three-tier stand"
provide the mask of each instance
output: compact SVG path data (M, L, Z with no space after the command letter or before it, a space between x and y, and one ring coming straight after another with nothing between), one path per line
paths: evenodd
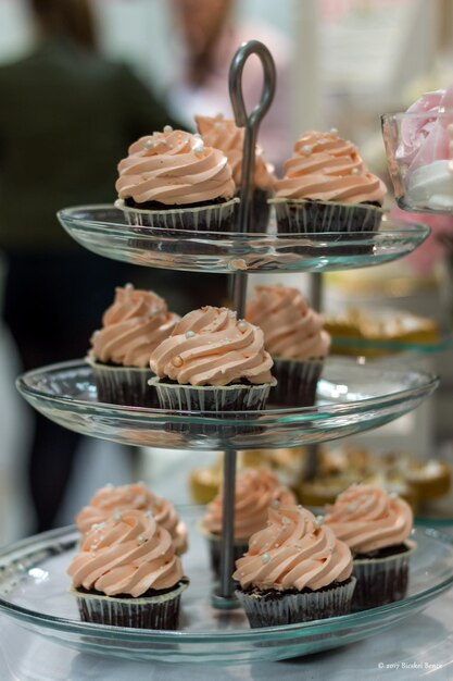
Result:
M263 411L146 409L99 403L92 369L84 360L29 371L17 380L33 407L61 425L119 443L171 449L297 447L366 431L415 409L437 376L328 358L313 407ZM151 389L151 388L150 388Z

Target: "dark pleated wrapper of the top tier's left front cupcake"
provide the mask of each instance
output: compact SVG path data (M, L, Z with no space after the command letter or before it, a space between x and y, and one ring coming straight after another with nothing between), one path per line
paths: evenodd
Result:
M235 206L238 198L232 198L211 206L191 208L168 208L166 210L146 210L126 206L123 199L115 201L115 207L123 211L129 225L164 230L172 236L179 230L191 232L234 232Z

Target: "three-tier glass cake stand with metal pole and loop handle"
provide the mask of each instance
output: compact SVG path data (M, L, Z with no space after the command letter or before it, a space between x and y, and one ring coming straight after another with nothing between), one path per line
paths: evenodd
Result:
M264 89L247 114L241 89L250 54L261 59ZM247 280L254 272L324 272L389 262L414 250L429 230L383 218L376 232L338 234L252 234L248 231L251 170L256 132L275 85L274 62L260 42L238 50L230 70L236 122L246 128L241 203L235 232L212 234L137 228L112 206L64 209L60 221L84 247L109 258L146 267L229 273L234 305L243 315ZM250 629L234 597L232 529L236 451L318 444L382 425L415 409L438 379L408 369L386 369L329 358L313 407L201 413L108 405L98 400L92 370L84 360L30 371L17 380L28 403L64 428L119 443L160 448L225 451L222 574L213 582L207 553L196 525L197 508L186 509L192 530L185 556L190 586L183 595L178 631L151 631L80 622L68 593L65 569L77 533L63 528L24 540L0 552L0 610L25 629L71 648L126 659L237 664L277 660L338 647L397 624L421 610L453 584L453 543L435 530L415 529L417 542L407 596L353 615L307 623Z

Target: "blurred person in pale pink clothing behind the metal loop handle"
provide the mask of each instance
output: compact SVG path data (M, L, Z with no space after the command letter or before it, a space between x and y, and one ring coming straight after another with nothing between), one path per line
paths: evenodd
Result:
M277 90L270 110L260 126L259 143L266 160L281 165L292 150L291 45L288 36L261 21L239 23L235 0L171 0L172 17L181 38L181 74L168 91L174 110L185 112L193 127L196 114L232 117L228 71L238 47L261 40L276 63ZM278 10L277 10L278 11ZM249 112L260 100L263 67L252 55L243 70L243 94Z

